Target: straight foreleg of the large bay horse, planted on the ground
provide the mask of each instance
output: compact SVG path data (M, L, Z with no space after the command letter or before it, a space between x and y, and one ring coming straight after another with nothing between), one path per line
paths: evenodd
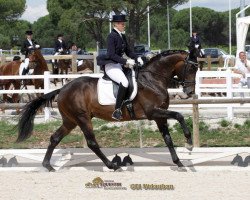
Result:
M178 166L178 167L183 167L183 164L181 163L180 159L178 158L176 151L174 149L174 144L172 141L172 138L169 134L168 126L166 125L167 120L155 120L159 131L162 134L162 137L169 149L169 152L171 154L173 162Z

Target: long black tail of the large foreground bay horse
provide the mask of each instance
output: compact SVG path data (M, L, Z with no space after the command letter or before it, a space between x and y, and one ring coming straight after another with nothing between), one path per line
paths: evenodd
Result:
M34 127L34 118L38 109L41 106L51 107L52 101L54 100L55 96L59 94L59 92L60 89L54 90L32 100L25 105L20 114L19 121L16 127L18 129L18 138L16 140L17 142L22 142L31 136Z

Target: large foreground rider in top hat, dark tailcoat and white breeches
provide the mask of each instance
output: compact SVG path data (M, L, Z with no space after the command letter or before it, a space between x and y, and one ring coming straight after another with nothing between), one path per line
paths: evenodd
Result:
M113 30L107 38L107 55L105 58L105 72L116 83L119 84L118 94L116 98L115 111L112 118L116 120L122 119L122 104L128 88L128 79L124 75L123 67L132 68L137 59L140 64L143 64L141 57L138 57L131 51L126 36L125 30L125 15L113 15ZM123 58L124 53L129 57Z

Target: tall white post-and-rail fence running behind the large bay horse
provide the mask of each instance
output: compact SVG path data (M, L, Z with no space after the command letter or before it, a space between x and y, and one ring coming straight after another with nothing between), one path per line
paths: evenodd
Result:
M70 74L70 75L53 75L50 72L45 72L44 75L25 75L25 76L0 76L0 79L44 79L44 89L21 89L21 90L0 90L0 94L8 94L8 93L48 93L55 88L51 87L51 79L54 78L68 78L74 79L80 76L94 76L100 77L101 73L98 74ZM238 78L237 74L232 73L231 71L198 71L196 75L196 94L198 95L198 99L215 99L215 98L228 98L228 99L237 99L241 98L240 93L244 93L245 96L249 97L250 89L249 88L239 88L238 84L234 83L234 79ZM250 77L250 75L248 75ZM205 79L209 80L223 80L224 83L220 84L207 84L204 83ZM181 89L169 89L171 91L180 92ZM209 97L204 96L205 93L225 93L226 96L223 97ZM191 104L186 105L171 105L171 107L180 107L183 108L192 108ZM234 116L234 108L242 108L242 109L250 109L250 104L203 104L199 105L200 108L224 108L227 109L227 116L229 119L232 119ZM50 113L48 111L45 112L45 120L49 119Z

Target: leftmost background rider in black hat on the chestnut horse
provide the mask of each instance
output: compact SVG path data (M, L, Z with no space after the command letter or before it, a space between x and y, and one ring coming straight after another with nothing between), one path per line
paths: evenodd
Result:
M34 49L34 48L40 48L40 45L37 44L37 42L33 39L33 32L31 30L28 30L25 32L26 34L26 39L23 42L22 48L21 48L21 53L25 55L25 60L20 66L22 68L22 75L25 75L29 71L29 51Z

